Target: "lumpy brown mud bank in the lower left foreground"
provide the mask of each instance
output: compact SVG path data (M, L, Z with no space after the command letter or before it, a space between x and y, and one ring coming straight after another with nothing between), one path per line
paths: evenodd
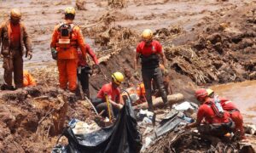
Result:
M47 152L67 121L94 116L89 105L73 104L74 94L54 87L2 91L0 99L1 152Z

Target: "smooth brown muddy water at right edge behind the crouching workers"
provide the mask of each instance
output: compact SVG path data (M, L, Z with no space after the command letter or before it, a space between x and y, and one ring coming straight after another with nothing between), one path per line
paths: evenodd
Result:
M244 122L256 124L256 81L228 83L211 88L215 94L234 101Z

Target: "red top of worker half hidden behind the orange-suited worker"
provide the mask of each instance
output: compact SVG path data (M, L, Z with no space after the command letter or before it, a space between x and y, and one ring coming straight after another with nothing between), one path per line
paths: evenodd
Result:
M98 65L99 64L98 59L96 58L96 54L94 53L94 51L90 48L90 45L86 43L84 47L85 47L85 53L90 54L90 57L93 59L94 63ZM84 67L85 65L88 65L88 63L86 62L86 59L83 57L83 54L80 50L78 51L78 54L79 54L79 66Z

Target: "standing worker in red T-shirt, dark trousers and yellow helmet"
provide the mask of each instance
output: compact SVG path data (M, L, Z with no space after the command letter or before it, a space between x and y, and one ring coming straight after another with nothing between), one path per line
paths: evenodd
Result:
M163 78L160 70L160 57L166 67L166 56L162 50L160 42L153 40L153 32L146 29L142 33L143 41L137 45L135 55L134 69L137 73L137 62L141 59L143 83L146 89L146 99L148 101L148 110L154 111L152 102L151 81L154 79L157 88L160 90L163 102L167 102L167 94L163 85ZM159 57L160 55L160 57Z

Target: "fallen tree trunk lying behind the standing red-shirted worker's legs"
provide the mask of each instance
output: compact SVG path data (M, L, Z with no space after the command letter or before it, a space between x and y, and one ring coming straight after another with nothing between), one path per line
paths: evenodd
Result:
M168 100L168 104L166 104L166 105L173 105L173 104L184 101L184 96L183 96L183 94L179 94L179 93L178 94L172 94L172 95L167 96L167 100ZM162 98L158 97L156 99L153 99L154 108L163 107L164 105L165 104L164 104ZM148 103L145 102L141 105L133 106L133 109L135 109L135 110L148 109Z

